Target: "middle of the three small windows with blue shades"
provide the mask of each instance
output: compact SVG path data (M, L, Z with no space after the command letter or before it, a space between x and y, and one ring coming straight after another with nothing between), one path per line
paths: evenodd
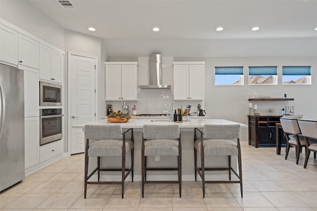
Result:
M249 67L249 85L276 85L277 66L251 66Z

